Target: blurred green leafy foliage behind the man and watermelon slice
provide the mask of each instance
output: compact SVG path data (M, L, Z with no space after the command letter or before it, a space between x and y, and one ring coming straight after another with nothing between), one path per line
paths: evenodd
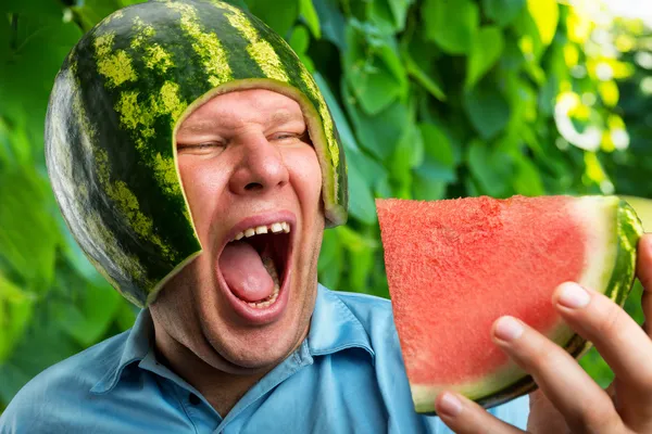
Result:
M71 238L42 152L64 56L133 2L0 4L0 411L36 373L135 318ZM292 44L336 117L351 217L325 233L329 288L388 296L374 197L652 195L650 72L635 63L652 42L637 23L616 23L605 53L592 35L606 30L555 0L233 2ZM627 309L642 322L640 291ZM582 365L610 381L597 353Z

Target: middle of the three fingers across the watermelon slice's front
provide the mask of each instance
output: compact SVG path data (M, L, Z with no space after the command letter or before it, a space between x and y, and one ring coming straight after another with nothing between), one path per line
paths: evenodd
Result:
M616 433L612 400L563 348L512 317L493 326L493 341L525 371L564 416L574 433Z

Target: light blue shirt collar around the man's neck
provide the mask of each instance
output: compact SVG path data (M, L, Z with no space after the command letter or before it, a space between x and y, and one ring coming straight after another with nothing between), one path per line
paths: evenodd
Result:
M93 394L111 392L120 381L125 368L153 355L154 326L149 309L140 311L125 342L118 362L90 390ZM362 348L375 357L369 336L351 309L340 297L322 284L313 310L308 348L311 356L324 356L347 348Z

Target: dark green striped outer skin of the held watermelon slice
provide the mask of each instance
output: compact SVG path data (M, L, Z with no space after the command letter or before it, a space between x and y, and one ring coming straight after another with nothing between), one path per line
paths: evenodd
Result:
M615 264L609 279L609 284L604 295L613 299L619 306L625 304L627 296L631 291L636 276L637 244L643 233L642 225L635 210L627 202L619 200L615 202L617 206L614 217L616 218L615 228ZM573 334L565 343L560 344L574 358L579 359L588 352L592 344L578 334ZM515 368L518 369L519 368ZM514 398L523 396L537 388L530 375L521 376L516 382L505 385L503 388L491 393L490 395L472 396L472 398L485 408L496 407ZM419 413L436 416L435 399L416 400L415 410Z

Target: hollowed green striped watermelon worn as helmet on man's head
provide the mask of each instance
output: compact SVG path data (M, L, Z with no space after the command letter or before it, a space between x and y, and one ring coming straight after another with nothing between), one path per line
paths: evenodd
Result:
M106 279L139 306L201 253L174 133L217 93L297 100L323 175L328 226L347 218L343 150L311 74L258 18L220 1L125 8L77 43L48 107L46 158L63 216Z

